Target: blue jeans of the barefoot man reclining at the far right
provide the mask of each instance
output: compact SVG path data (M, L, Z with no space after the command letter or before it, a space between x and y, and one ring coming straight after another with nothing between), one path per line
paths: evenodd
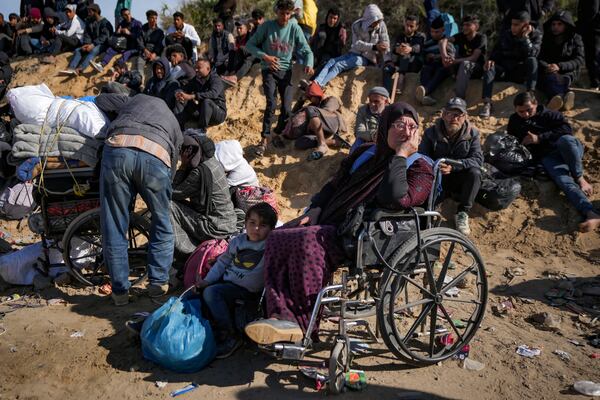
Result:
M574 136L564 135L556 142L556 149L542 159L542 164L569 202L586 216L594 206L575 181L583 176L582 158L581 142Z

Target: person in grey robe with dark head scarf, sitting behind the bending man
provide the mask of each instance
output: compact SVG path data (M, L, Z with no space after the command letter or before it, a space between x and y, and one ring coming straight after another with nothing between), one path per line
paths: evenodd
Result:
M215 144L193 129L184 132L170 205L176 257L187 259L205 240L225 239L236 232L237 215Z

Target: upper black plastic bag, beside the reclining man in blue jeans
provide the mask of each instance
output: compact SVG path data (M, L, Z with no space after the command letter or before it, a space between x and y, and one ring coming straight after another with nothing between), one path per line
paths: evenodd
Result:
M518 175L531 161L531 153L518 139L507 133L494 133L483 145L485 161L509 175Z

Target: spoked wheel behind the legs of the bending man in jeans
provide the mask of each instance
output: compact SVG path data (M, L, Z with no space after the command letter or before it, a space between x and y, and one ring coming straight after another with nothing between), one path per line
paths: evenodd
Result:
M132 285L146 278L147 243L150 223L138 214L131 214L127 232L129 279ZM96 286L106 283L108 270L102 255L100 209L86 211L69 224L63 242L63 258L71 274L82 284Z

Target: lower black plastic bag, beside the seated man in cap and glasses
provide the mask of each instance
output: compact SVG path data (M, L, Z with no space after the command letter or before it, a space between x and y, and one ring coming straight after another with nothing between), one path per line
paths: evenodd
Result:
M519 196L521 183L518 178L507 177L491 165L485 167L475 201L488 210L503 210Z

